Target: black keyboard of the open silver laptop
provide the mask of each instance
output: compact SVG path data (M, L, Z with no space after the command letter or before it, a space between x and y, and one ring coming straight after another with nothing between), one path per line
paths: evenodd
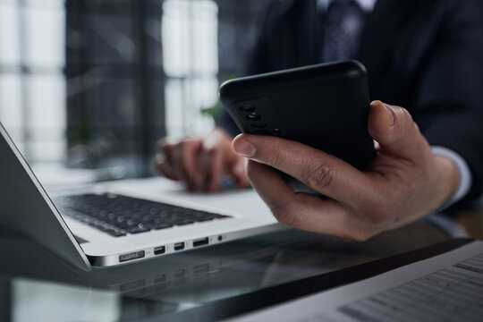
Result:
M231 218L206 211L114 194L83 194L54 199L64 216L71 216L114 237Z

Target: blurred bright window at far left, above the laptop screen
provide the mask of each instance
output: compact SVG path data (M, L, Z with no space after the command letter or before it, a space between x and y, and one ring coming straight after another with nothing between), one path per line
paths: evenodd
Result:
M32 162L65 160L64 1L0 1L0 122Z

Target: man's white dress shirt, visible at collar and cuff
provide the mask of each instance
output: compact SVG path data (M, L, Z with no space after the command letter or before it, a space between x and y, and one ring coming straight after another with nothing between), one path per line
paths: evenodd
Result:
M329 4L334 0L318 0L317 7L319 11L326 11ZM376 5L377 0L354 0L357 4L360 5L360 8L365 13L371 13ZM450 148L435 146L431 147L433 154L436 156L446 157L450 159L453 164L456 166L458 173L460 175L458 186L456 190L453 192L453 195L445 201L445 203L438 208L437 210L442 210L451 206L456 201L462 199L468 191L470 191L472 177L470 172L470 167L466 163L466 161L456 152L454 152Z

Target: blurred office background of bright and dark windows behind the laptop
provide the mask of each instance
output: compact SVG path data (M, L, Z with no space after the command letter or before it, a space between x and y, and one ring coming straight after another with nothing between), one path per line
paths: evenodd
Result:
M270 1L0 0L0 122L30 163L151 175L158 138L214 126Z

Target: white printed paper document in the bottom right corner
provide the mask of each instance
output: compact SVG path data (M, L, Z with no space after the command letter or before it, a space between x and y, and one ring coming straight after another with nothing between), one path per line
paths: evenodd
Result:
M231 321L483 321L483 242Z

